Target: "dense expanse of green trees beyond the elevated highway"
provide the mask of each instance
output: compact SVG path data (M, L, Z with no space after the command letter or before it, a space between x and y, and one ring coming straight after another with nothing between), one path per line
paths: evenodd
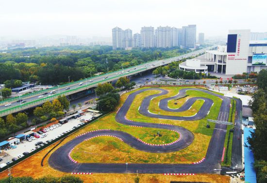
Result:
M0 83L6 80L59 84L127 68L147 61L178 56L185 49L112 50L112 46L27 48L0 54ZM107 60L107 62L106 62ZM68 77L70 76L70 77Z

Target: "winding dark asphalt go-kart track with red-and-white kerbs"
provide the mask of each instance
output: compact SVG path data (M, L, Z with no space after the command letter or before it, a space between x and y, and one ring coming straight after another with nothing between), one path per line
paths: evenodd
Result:
M159 119L168 119L168 120L181 120L181 121L195 121L204 118L210 108L213 105L213 101L204 97L193 97L187 100L184 105L178 109L170 109L167 107L167 102L171 99L179 98L185 96L186 91L195 90L205 92L214 96L219 97L222 100L222 104L220 107L220 112L228 113L229 106L231 103L230 98L209 92L206 90L196 89L196 88L188 88L181 89L179 94L173 97L168 97L162 99L159 102L159 107L162 110L171 111L171 112L181 112L189 109L196 100L204 100L204 104L200 108L199 112L191 117L182 117L182 116L168 116L168 115L159 115L150 113L148 110L150 100L154 97L165 95L168 93L167 90L151 88L151 89L143 89L136 91L128 96L123 106L118 110L116 115L116 121L125 125L138 126L138 127L149 127L149 128L160 128L167 130L178 131L180 134L180 139L174 143L170 143L168 145L149 145L141 142L137 138L132 135L115 130L99 130L93 131L90 133L86 133L84 135L80 135L71 141L67 142L65 145L58 148L55 152L53 152L49 158L49 165L52 168L63 172L72 172L72 173L124 173L126 170L126 165L122 163L79 163L73 162L73 160L69 157L69 152L72 149L82 143L84 140L96 137L96 136L115 136L121 139L124 143L127 143L131 147L145 152L175 152L180 151L187 146L189 146L193 140L194 135L187 129L169 124L159 124L159 123L147 123L147 122L134 122L125 118L127 111L129 110L131 104L134 101L134 98L137 94L149 90L160 91L158 94L153 94L147 96L141 103L139 108L139 112L145 116L149 116L151 118L159 118ZM226 119L228 120L228 119ZM134 127L133 127L134 128ZM211 137L208 150L206 153L205 159L198 164L158 164L158 163L129 163L128 171L131 173L135 173L138 170L139 173L219 173L220 171L215 169L220 169L220 163L222 158L224 140L226 134L226 125L216 123L213 135Z

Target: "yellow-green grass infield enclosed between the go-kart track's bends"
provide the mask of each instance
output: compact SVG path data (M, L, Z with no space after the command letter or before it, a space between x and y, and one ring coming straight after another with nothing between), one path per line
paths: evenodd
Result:
M188 87L164 87L164 89L169 90L169 94L154 98L153 103L156 103L157 105L153 105L152 103L150 104L150 107L152 106L151 112L152 110L158 110L158 102L161 98L173 96L177 94L181 88ZM132 92L125 93L121 96L119 106L123 104L128 95ZM186 94L189 94L189 97L204 96L211 98L214 101L214 105L213 107L211 107L210 113L205 119L193 122L151 119L149 117L141 115L138 112L138 108L143 98L155 93L158 93L158 91L146 91L138 94L134 99L134 102L131 105L126 117L137 122L161 122L183 126L189 129L195 136L191 145L179 152L150 153L136 150L114 137L96 137L77 145L74 151L71 152L72 158L78 162L95 163L192 163L200 161L206 154L214 128L214 124L211 124L211 128L206 128L206 120L217 119L221 100L218 100L218 98L213 95L203 92L188 91ZM191 108L197 110L201 106L201 101L198 101L194 104L194 107ZM143 141L153 144L169 143L179 138L179 135L173 131L163 129L158 130L151 128L139 128L120 124L115 121L116 112L117 110L87 125L80 130L81 132L79 132L83 133L94 129L109 128L125 131L133 135L134 137L140 138ZM154 137L154 134L156 134L158 131L163 134L162 137Z

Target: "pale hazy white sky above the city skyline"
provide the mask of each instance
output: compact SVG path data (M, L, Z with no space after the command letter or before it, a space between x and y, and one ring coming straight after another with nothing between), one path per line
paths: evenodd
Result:
M0 0L0 36L111 37L111 29L180 28L206 36L229 29L267 31L267 0Z

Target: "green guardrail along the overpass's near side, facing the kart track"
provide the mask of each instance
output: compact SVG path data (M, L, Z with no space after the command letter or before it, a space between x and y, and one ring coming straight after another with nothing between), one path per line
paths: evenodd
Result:
M136 72L139 72L139 71L144 70L144 69L145 68L138 69L138 70L132 71L132 72L127 72L127 73L121 74L119 76L114 76L114 77L111 77L111 78L103 79L101 81L97 81L97 82L94 82L94 83L83 85L83 86L75 88L75 89L70 89L70 90L67 90L67 91L64 91L64 92L61 92L61 93L55 93L55 94L53 94L53 96L47 96L47 97L44 97L44 98L39 98L39 99L36 99L34 101L25 103L25 104L21 104L21 105L17 105L17 106L14 106L14 107L10 107L10 108L1 110L0 111L0 115L6 114L6 113L15 112L17 109L23 109L24 107L33 107L35 105L39 105L41 103L44 103L44 102L46 102L48 100L55 99L59 95L63 95L63 94L68 95L68 94L71 94L72 92L79 91L81 89L87 89L90 86L93 86L93 85L96 85L96 84L100 84L100 83L103 83L103 82L109 82L109 81L112 81L115 78L119 78L121 76L129 75L129 74L132 74L132 73L136 73Z

